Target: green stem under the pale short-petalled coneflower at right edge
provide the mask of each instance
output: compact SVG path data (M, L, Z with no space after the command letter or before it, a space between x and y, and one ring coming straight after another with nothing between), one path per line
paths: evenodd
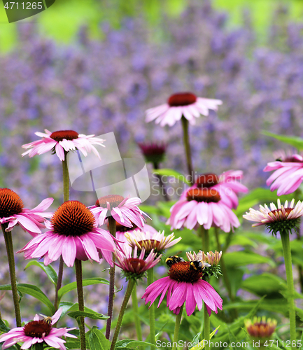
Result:
M290 239L289 232L282 231L281 241L283 246L283 254L286 268L286 281L288 288L288 308L289 308L289 319L290 319L290 342L296 340L296 330L295 330L295 288L293 286L293 267L291 262L291 251L290 251ZM295 349L295 346L291 346Z

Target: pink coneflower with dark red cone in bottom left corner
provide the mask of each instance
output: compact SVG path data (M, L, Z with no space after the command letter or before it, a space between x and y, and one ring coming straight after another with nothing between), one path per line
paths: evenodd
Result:
M7 333L0 335L0 342L2 349L8 349L17 342L23 342L21 349L30 349L31 346L37 343L47 344L47 346L54 347L55 349L66 350L64 346L65 340L61 337L76 338L75 335L69 334L69 330L76 328L55 328L54 325L62 313L62 307L52 316L51 323L44 320L40 320L39 316L34 316L34 321L31 321L24 325L24 327L13 328Z

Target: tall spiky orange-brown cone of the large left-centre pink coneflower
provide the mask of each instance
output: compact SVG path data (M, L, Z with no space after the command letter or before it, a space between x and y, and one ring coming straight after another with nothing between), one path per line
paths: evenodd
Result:
M79 237L93 230L95 220L90 209L83 203L70 200L55 211L51 223L55 233L66 237Z

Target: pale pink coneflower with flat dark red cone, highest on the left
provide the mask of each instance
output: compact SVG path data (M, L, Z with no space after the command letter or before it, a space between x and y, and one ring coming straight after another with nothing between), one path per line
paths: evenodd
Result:
M31 142L30 144L25 144L22 148L27 149L26 152L22 153L24 155L29 155L29 157L34 157L34 155L40 155L48 151L53 151L59 157L59 160L63 161L65 159L64 151L75 151L78 149L86 157L87 152L94 152L95 155L100 159L97 149L93 145L103 146L103 139L98 139L94 135L84 135L78 134L73 130L60 130L57 132L50 132L45 129L45 134L43 132L35 132L38 137L42 137L41 140Z

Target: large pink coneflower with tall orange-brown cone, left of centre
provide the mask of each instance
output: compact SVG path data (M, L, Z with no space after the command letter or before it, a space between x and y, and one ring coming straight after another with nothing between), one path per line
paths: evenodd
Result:
M76 200L64 202L45 224L49 230L31 239L17 253L25 252L26 259L44 257L45 265L62 255L69 267L76 258L100 262L102 256L113 266L115 241L106 230L97 228L92 212L84 204Z

